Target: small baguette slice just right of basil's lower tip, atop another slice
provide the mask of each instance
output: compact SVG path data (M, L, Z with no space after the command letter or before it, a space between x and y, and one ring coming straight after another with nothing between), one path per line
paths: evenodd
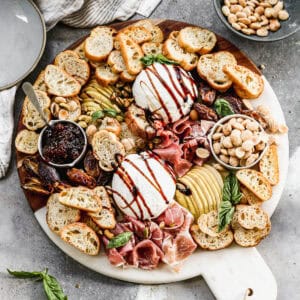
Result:
M238 209L238 222L245 229L264 229L269 216L258 206L242 205Z

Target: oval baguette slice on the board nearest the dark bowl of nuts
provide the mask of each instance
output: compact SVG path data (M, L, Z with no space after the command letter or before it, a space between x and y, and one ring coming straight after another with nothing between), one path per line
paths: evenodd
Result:
M212 51L217 42L216 35L206 29L188 26L180 30L178 43L188 52L207 54Z

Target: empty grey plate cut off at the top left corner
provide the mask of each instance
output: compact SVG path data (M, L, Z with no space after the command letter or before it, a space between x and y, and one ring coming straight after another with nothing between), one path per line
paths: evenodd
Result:
M0 90L25 78L39 62L46 27L32 0L0 1Z

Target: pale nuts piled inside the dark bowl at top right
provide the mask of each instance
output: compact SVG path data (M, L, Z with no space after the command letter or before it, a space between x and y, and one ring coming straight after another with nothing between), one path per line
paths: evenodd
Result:
M283 1L278 0L225 0L222 12L234 29L258 36L277 31L279 21L289 18Z

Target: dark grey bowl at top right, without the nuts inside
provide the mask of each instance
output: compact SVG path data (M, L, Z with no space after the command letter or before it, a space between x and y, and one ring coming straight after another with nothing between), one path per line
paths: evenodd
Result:
M232 32L237 35L246 38L248 40L257 41L257 42L273 42L287 38L288 36L294 34L300 29L300 1L299 0L285 0L284 9L286 9L290 17L286 21L280 21L280 29L275 32L270 32L268 36L257 36L257 35L247 35L234 29L231 24L227 21L222 13L222 6L224 5L224 0L214 0L215 10L225 24Z

